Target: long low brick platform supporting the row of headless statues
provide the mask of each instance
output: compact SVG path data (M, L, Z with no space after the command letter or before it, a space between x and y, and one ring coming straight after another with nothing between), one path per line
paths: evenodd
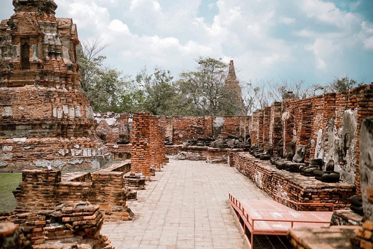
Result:
M258 160L248 152L234 153L233 161L241 174L250 178L270 196L283 194L297 202L333 203L338 210L349 208L350 197L355 195L355 184L325 183L299 173L278 170L269 160ZM279 189L281 193L278 193ZM311 211L310 207L305 209ZM325 210L322 207L313 209Z

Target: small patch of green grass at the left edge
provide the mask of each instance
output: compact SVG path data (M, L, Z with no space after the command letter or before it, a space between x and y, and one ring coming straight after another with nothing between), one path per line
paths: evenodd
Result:
M13 211L17 207L17 201L12 192L21 181L22 174L20 173L0 173L0 213Z

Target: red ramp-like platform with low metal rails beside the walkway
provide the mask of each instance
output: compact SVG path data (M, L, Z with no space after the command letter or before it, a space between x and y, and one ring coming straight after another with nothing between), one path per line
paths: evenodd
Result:
M322 205L334 211L332 203L299 203L281 196L273 196L273 200L243 199L238 201L236 197L229 194L229 202L235 210L238 223L250 249L253 249L254 234L287 235L290 228L329 226L333 212L298 211L301 205ZM295 210L285 206L286 202ZM251 235L250 240L247 230Z

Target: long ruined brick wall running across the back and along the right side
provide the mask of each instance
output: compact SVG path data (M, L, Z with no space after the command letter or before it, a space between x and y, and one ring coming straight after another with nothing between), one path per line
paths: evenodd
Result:
M250 134L253 144L266 142L273 146L274 153L281 139L286 151L288 143L297 136L296 146L303 144L307 148L306 160L333 159L341 179L355 185L356 193L360 193L359 129L362 119L370 115L373 115L373 84L341 93L275 102L251 116L160 116L158 119L165 136L173 142L172 146L166 146L169 155L185 151L180 145L183 141L204 136Z

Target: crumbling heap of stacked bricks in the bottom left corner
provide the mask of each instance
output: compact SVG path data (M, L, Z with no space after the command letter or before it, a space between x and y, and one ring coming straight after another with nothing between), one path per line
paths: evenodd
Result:
M13 232L4 231L4 224L8 224L8 227L13 224ZM3 233L0 233L0 237L2 242L8 240L6 237L11 232L12 235L19 234L20 236L16 236L14 240L14 245L21 245L19 249L75 249L83 248L82 244L92 245L84 247L87 249L112 249L110 240L100 233L102 224L103 214L99 205L92 205L89 202L66 202L55 210L1 213L0 227ZM3 248L1 242L0 246Z

